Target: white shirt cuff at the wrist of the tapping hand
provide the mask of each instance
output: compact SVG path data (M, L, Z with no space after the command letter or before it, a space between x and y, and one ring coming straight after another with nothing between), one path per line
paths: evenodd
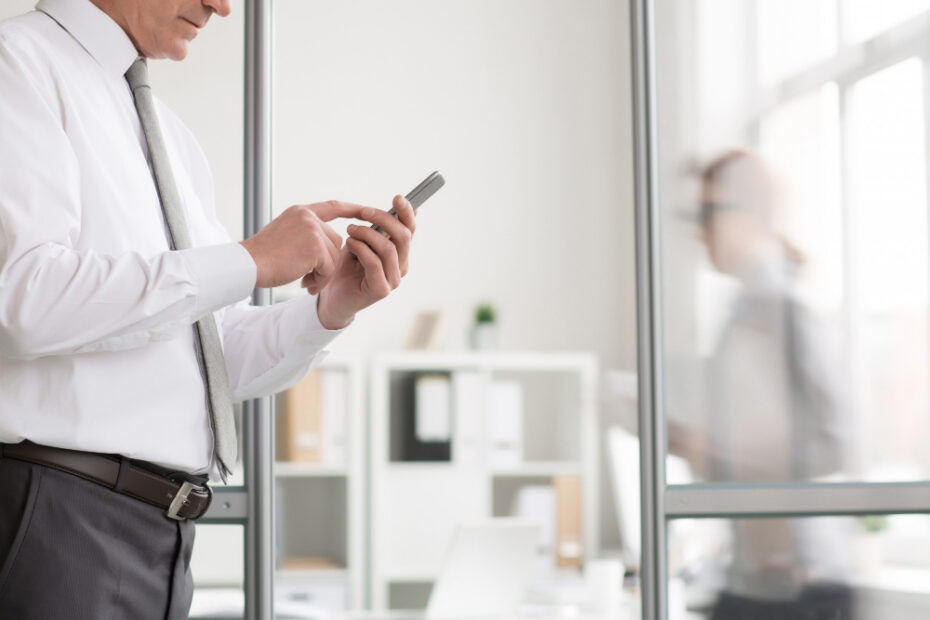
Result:
M180 254L197 288L197 318L245 299L255 288L258 268L249 251L238 243L191 248Z

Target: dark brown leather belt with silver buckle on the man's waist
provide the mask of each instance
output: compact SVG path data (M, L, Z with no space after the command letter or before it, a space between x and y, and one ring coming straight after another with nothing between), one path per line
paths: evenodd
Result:
M173 480L118 456L50 448L24 441L0 444L0 457L36 463L80 476L162 508L165 516L178 521L199 519L213 499L213 491L206 483Z

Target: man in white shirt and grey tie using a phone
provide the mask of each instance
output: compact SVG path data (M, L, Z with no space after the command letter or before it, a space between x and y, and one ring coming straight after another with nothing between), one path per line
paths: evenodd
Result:
M0 24L0 618L186 618L231 400L297 382L407 271L413 211L294 206L230 243L151 96L229 0L40 0ZM345 246L327 224L349 217ZM253 308L253 287L310 295ZM222 346L220 346L222 344Z

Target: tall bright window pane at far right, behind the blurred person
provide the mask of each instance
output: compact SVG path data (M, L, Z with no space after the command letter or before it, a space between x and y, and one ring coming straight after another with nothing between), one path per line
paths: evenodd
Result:
M851 260L858 277L854 404L867 479L926 478L930 395L922 65L862 80L850 97ZM889 415L889 406L894 411Z

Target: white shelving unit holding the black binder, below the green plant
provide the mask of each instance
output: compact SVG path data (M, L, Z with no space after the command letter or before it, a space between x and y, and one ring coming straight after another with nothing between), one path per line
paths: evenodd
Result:
M410 451L419 441L410 437L411 424L419 428L412 420L423 375L449 381L451 432L448 445L439 446L445 452ZM522 457L494 464L490 429L502 416L489 395L500 382L519 386ZM596 382L597 360L585 353L398 353L372 360L374 609L424 604L456 523L508 516L521 488L551 485L555 477L580 481L582 555L597 553Z

